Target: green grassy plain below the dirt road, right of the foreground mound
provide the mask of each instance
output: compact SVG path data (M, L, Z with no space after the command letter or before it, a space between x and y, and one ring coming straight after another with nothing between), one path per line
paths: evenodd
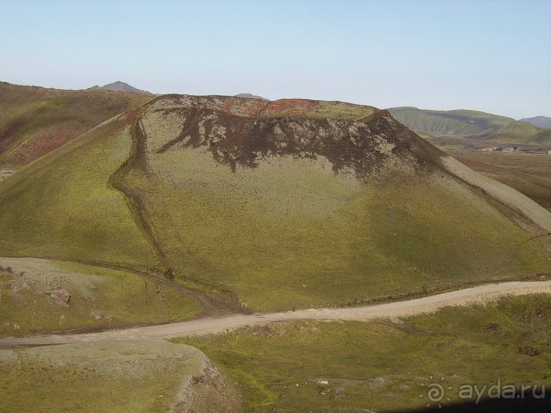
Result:
M399 321L281 322L175 341L238 381L244 411L397 412L425 407L423 384L433 382L453 388L444 407L465 383L538 384L541 393L551 385L550 328L542 294Z

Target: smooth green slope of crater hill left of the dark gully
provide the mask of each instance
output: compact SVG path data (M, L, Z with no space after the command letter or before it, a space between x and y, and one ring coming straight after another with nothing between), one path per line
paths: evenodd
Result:
M129 157L125 117L0 182L0 256L64 257L149 268L154 252L110 177Z

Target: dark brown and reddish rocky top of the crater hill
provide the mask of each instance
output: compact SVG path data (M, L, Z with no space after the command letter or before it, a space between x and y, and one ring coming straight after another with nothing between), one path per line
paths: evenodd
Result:
M389 163L424 169L444 156L388 112L342 102L229 96L163 96L148 103L141 154L205 147L214 160L255 168L264 158L322 156L333 171L366 178Z

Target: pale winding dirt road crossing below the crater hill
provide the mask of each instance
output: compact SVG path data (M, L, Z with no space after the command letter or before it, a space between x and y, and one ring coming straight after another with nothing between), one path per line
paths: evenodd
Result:
M358 308L326 308L322 310L288 311L261 315L231 315L180 323L109 330L105 332L75 335L43 335L32 337L0 337L0 347L45 346L63 343L83 343L106 340L145 339L174 337L203 332L215 332L251 324L269 323L272 321L291 320L329 320L356 319L366 320L380 317L400 317L418 313L430 313L444 306L484 304L503 295L521 295L530 293L551 294L551 281L541 282L506 282L488 284L464 290L451 291L408 301L381 304L378 306Z

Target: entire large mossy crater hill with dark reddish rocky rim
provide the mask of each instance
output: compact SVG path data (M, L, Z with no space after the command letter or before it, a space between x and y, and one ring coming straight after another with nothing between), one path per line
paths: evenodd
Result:
M156 98L2 180L0 216L0 255L152 268L254 310L551 271L523 229L548 211L338 102Z

